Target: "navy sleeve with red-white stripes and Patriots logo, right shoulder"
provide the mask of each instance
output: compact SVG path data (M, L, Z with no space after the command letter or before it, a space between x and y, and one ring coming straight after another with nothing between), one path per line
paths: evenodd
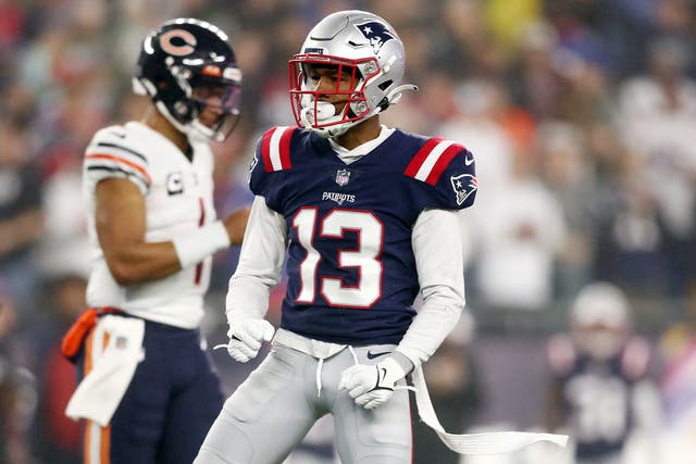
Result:
M445 205L453 209L473 204L478 189L474 155L463 145L439 137L423 139L403 174L437 188Z

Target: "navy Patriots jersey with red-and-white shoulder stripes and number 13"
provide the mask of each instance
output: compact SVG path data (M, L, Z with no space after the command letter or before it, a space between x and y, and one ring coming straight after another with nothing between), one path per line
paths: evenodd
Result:
M448 140L397 129L346 164L295 127L261 138L249 184L287 223L281 326L353 346L401 340L419 291L413 225L425 209L470 206L477 187L473 155Z

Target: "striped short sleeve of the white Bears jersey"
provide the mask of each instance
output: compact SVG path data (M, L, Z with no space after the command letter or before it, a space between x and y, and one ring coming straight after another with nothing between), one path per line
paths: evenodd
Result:
M98 130L85 150L84 165L97 178L125 176L136 180L142 191L152 183L149 162L138 136L125 126Z

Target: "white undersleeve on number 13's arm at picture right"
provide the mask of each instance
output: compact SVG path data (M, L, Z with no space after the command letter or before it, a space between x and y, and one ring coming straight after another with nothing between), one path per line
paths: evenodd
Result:
M464 265L458 212L423 211L411 237L423 305L396 349L413 364L435 353L464 308Z

